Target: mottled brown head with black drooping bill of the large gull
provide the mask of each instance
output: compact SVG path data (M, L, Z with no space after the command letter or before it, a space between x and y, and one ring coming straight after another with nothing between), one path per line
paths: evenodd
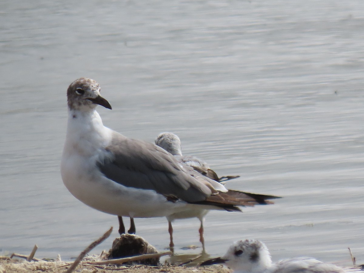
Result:
M79 78L67 90L67 103L70 110L90 111L97 104L111 109L110 103L100 96L99 84L89 78Z

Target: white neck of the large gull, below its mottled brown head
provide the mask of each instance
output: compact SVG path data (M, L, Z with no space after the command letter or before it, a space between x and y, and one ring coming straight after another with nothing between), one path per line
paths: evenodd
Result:
M90 111L69 109L64 153L77 152L90 157L109 145L111 132L111 129L103 125L95 109Z

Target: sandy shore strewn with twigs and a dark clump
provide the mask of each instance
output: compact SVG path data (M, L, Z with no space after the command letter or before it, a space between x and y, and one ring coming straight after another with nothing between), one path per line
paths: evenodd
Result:
M195 265L199 265L202 261L207 260L208 256L205 257L202 253L197 255L171 255L172 252L169 251L159 253L157 249L149 245L142 237L135 234L123 234L120 238L116 238L112 244L112 248L108 252L103 251L98 255L87 255L87 253L92 251L96 245L100 244L100 242L110 236L111 232L112 227L103 234L103 236L92 242L86 249L84 249L75 261L62 261L59 255L52 261L35 258L34 255L38 248L36 245L29 255L13 253L10 257L0 256L0 273L66 271L83 273L120 271L127 273L230 272L230 270L219 265L209 268L197 268ZM114 255L116 255L116 257ZM162 256L170 256L169 262L160 264L159 258ZM125 265L125 262L130 265ZM74 266L76 267L74 268Z

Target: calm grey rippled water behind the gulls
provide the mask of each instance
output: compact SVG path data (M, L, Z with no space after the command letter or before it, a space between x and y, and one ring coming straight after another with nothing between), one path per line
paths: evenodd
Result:
M300 3L298 3L300 2ZM117 219L83 205L59 165L66 90L94 78L106 126L153 142L163 131L231 189L283 196L244 213L212 211L206 249L243 238L273 259L364 263L364 1L0 2L0 254L77 256ZM128 223L127 223L128 224ZM165 218L136 219L163 250ZM197 219L174 224L178 254Z

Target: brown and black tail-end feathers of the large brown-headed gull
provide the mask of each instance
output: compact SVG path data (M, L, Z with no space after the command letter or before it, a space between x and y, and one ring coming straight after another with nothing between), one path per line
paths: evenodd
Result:
M269 199L277 198L281 197L228 190L226 193L219 192L219 194L210 195L205 201L196 203L222 207L227 211L241 211L237 206L268 205L273 204Z

